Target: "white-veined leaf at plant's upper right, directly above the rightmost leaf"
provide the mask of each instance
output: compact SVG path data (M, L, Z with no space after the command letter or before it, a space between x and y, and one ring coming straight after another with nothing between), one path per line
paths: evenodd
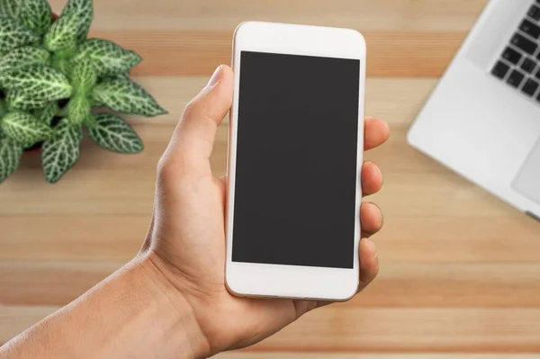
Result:
M85 41L75 59L77 61L81 58L92 60L100 77L125 73L142 61L136 52L122 49L114 42L102 39Z

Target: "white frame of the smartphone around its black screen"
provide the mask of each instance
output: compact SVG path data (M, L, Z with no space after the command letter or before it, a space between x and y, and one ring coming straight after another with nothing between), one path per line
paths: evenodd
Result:
M270 52L360 60L358 108L358 154L356 164L355 260L352 269L300 265L263 265L232 262L233 216L238 134L238 88L241 51ZM226 284L238 296L294 298L320 301L347 301L359 283L361 166L364 153L365 39L358 31L274 22L243 22L233 39L234 97L229 113L229 154L227 180L227 261Z

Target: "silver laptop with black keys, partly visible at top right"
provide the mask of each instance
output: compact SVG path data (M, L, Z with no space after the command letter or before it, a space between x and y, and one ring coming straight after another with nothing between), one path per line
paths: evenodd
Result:
M540 0L491 0L408 133L540 220Z

